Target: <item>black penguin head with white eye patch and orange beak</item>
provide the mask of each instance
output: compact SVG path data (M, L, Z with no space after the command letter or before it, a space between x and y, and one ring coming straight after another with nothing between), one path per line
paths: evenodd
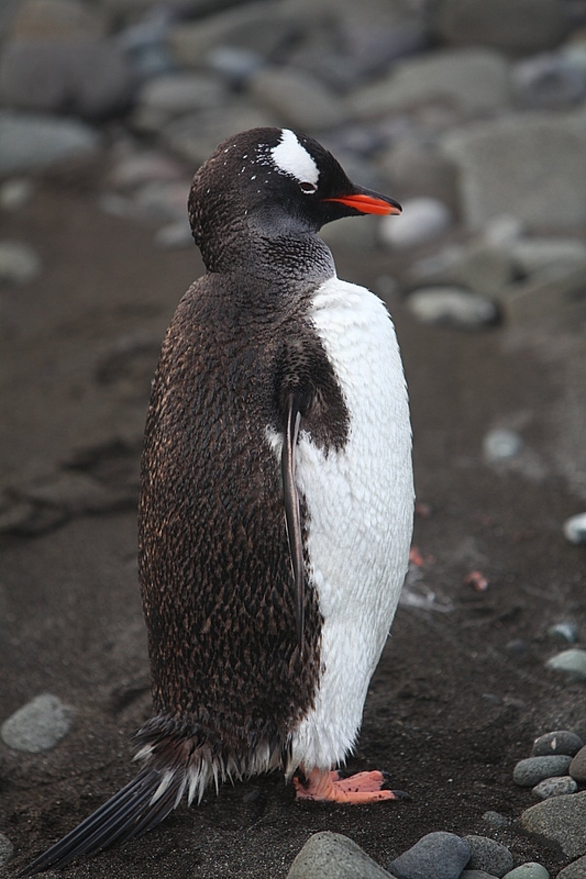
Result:
M188 207L206 264L233 236L299 236L341 217L401 212L397 201L353 184L319 142L289 128L253 128L223 141L195 174Z

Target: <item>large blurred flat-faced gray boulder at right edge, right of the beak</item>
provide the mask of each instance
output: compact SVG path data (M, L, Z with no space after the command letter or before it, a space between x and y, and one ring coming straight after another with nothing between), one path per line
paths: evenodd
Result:
M459 128L443 145L460 167L472 229L498 214L529 226L586 222L586 129L577 122L529 113Z

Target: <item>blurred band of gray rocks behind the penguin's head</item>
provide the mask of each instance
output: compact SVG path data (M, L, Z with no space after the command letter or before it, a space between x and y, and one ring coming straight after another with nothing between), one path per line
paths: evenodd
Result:
M4 209L31 173L101 153L103 209L188 245L184 196L216 144L288 126L404 203L400 223L324 230L396 251L404 291L515 317L536 287L555 287L541 308L583 294L584 0L8 0L0 102ZM429 319L493 321L437 295Z

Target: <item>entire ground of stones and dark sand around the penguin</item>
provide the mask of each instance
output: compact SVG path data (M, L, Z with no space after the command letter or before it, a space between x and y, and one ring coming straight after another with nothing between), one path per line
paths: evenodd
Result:
M0 101L1 875L132 774L138 454L202 270L187 187L278 125L405 207L324 237L387 301L412 399L412 570L348 765L412 800L254 779L68 875L583 879L586 4L9 2Z

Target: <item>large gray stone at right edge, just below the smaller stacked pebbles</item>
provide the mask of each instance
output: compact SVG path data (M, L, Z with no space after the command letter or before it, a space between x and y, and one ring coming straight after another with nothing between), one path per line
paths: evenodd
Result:
M586 790L553 796L531 806L521 815L521 824L525 830L558 843L568 858L586 854Z

